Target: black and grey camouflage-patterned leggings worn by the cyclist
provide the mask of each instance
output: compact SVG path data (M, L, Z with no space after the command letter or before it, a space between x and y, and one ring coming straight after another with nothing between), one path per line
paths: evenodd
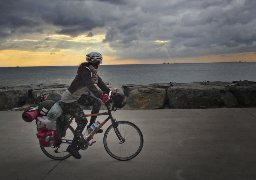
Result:
M79 140L80 135L88 122L86 117L84 116L83 109L79 106L79 104L83 106L93 106L92 114L94 114L99 113L101 101L97 98L94 98L93 96L83 94L78 101L72 103L63 103L64 112L76 118L77 128L75 129L74 135L75 141ZM91 117L88 127L90 127L95 122L96 118L97 116Z

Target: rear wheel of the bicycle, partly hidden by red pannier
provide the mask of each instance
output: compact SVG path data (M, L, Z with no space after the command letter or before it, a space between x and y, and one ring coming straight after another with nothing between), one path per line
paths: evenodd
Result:
M42 147L40 146L41 150L47 155L49 158L54 160L64 160L71 156L69 152L66 151L67 147L72 143L74 138L75 130L71 126L68 126L66 130L65 137L62 137L62 143L59 147Z

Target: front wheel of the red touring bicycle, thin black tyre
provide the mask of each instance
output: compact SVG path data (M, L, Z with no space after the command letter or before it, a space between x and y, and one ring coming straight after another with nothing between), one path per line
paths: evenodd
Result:
M117 129L124 142L121 142L112 125L110 125L103 137L103 145L107 153L120 161L127 161L136 157L143 146L143 136L140 129L133 123L128 121L116 122Z

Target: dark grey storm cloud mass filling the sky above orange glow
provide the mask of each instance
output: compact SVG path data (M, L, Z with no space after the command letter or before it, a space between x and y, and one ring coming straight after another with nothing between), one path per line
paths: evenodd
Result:
M2 0L0 49L22 48L9 40L33 33L92 37L100 29L120 59L254 52L255 8L251 0ZM50 42L31 47L72 48Z

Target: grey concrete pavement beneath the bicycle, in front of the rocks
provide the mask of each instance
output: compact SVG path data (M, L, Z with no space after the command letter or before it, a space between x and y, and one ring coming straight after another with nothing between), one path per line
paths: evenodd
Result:
M119 110L114 118L135 123L144 136L130 161L111 158L103 134L80 151L82 159L51 160L41 152L35 121L24 122L22 113L0 111L3 180L256 179L256 108Z

